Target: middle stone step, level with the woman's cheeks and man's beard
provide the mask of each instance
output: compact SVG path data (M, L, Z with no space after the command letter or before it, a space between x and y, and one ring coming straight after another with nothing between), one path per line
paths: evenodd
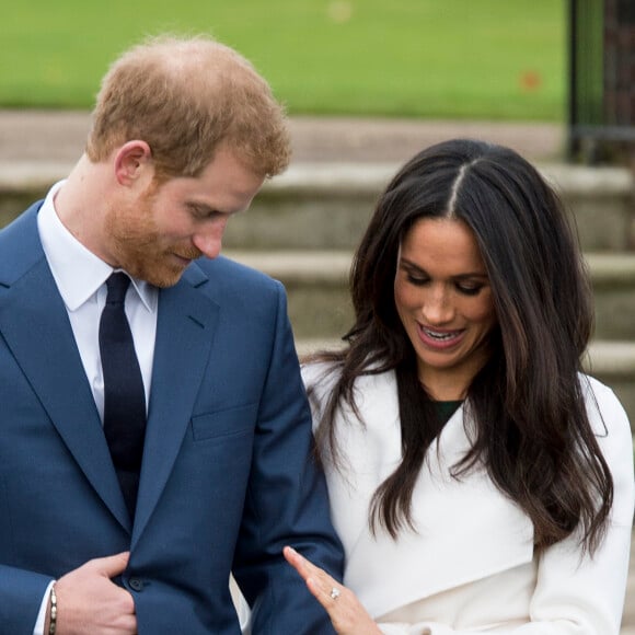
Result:
M350 326L350 251L224 253L282 281L298 337L338 337ZM594 292L596 337L635 340L635 253L586 257Z

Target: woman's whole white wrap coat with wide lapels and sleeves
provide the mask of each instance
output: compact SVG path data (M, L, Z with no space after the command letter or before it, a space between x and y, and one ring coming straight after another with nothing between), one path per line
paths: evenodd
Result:
M320 365L303 369L305 384L316 390L314 420L334 381L324 380L323 371ZM401 461L396 382L393 372L357 380L363 425L349 408L340 409L336 430L344 467L334 470L327 459L324 467L345 547L344 584L384 633L619 633L633 527L633 442L613 392L594 379L581 380L615 487L609 531L593 558L582 555L576 536L535 556L532 523L484 469L460 481L449 475L470 447L463 407L427 453L413 497L416 532L403 531L397 541L381 529L373 535L370 499Z

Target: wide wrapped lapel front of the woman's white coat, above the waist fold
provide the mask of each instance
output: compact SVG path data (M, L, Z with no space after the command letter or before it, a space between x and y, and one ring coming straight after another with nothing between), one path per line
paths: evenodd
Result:
M397 542L368 528L368 506L401 460L394 373L358 380L366 428L338 420L349 461L345 478L327 466L335 528L346 551L345 584L374 616L396 607L528 563L533 530L528 517L476 470L455 481L448 474L470 447L463 408L432 444L414 493L417 533ZM362 396L363 395L363 396ZM381 584L377 584L381 580Z

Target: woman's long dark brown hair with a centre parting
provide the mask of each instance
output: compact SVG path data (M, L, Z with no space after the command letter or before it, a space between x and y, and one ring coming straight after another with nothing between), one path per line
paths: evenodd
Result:
M592 552L605 530L613 483L579 376L593 326L589 278L558 196L507 148L463 139L432 146L406 163L380 197L353 262L348 346L318 356L339 371L322 411L318 447L328 448L337 464L339 404L357 412L356 378L394 370L403 460L374 493L369 520L393 538L412 527L413 490L441 428L394 302L399 249L422 218L460 220L474 232L498 322L489 361L467 389L475 439L454 476L483 463L533 522L536 549L580 528L584 547Z

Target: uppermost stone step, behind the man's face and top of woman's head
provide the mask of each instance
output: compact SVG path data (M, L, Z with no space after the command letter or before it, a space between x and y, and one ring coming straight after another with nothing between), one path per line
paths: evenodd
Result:
M71 165L0 163L0 226ZM379 193L396 172L393 163L297 163L265 184L249 213L229 226L226 245L234 249L353 249ZM633 173L622 168L545 164L544 175L574 211L588 251L635 247Z

